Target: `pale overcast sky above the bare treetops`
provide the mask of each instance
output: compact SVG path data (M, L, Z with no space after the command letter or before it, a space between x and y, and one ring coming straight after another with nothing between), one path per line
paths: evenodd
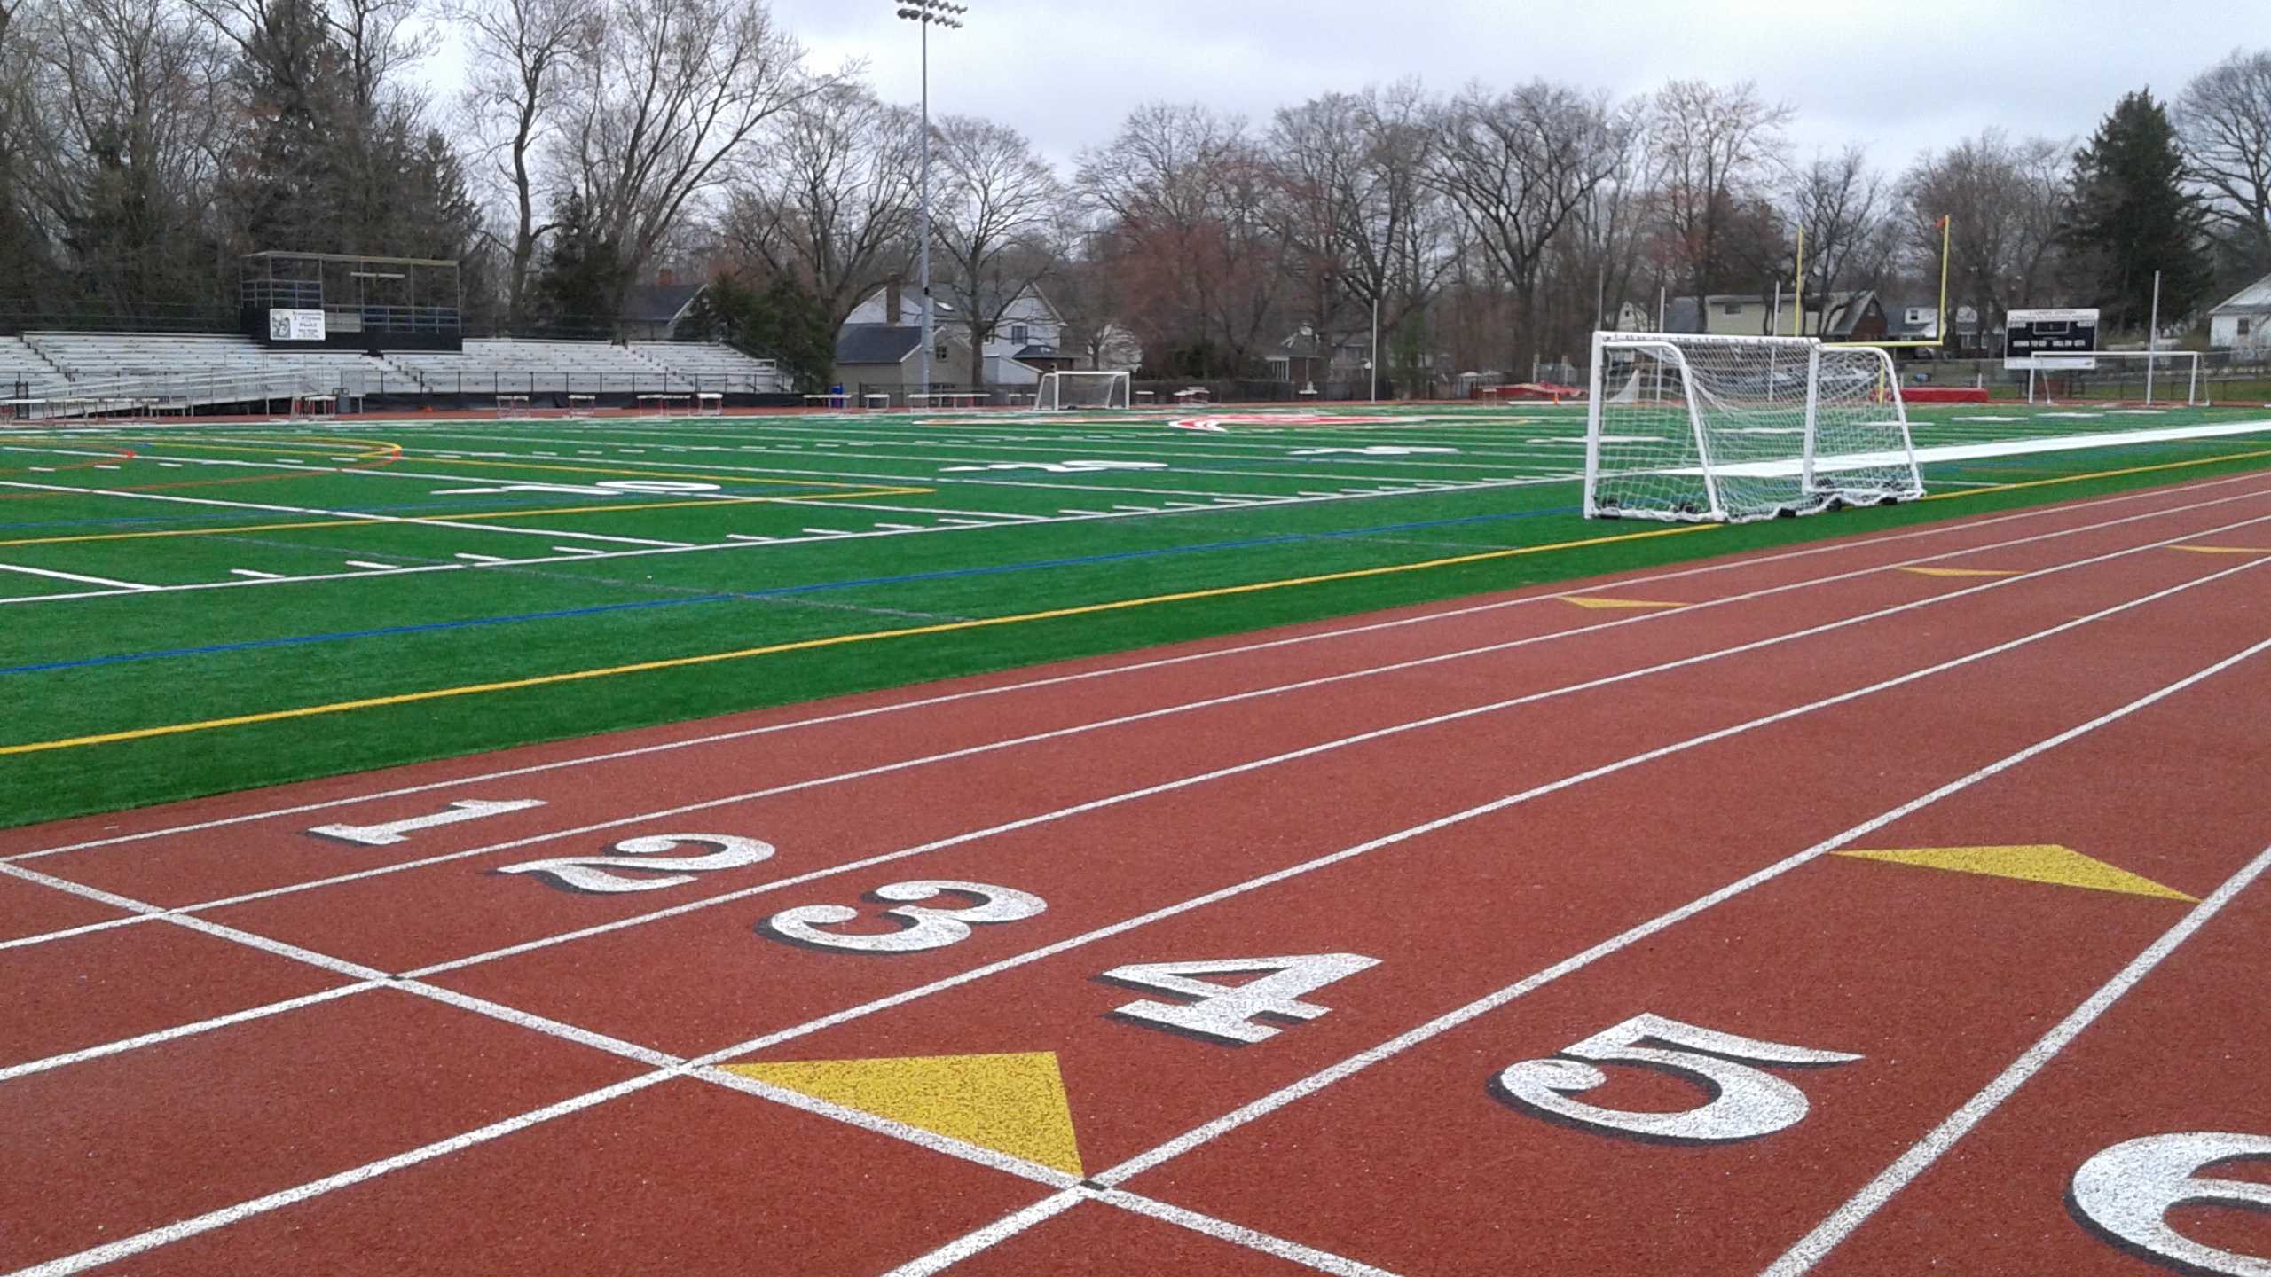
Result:
M815 66L863 59L920 98L917 30L895 0L772 0ZM2130 89L2173 95L2232 48L2271 45L2271 0L972 0L933 32L931 111L1011 123L1070 164L1129 107L1197 100L1267 125L1333 89L1419 75L1433 89L1533 77L1646 93L1671 77L1755 80L1796 109L1799 157L1869 145L1883 168L1996 125L2085 136ZM450 57L429 68L454 86Z

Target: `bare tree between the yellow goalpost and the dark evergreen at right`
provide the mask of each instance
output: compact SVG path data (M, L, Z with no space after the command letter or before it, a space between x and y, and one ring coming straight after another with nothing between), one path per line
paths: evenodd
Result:
M1987 130L1926 155L1908 173L1910 234L1921 259L1939 257L1939 218L1955 218L1955 295L1987 332L2012 307L2048 302L2058 289L2058 236L2073 200L2067 148Z

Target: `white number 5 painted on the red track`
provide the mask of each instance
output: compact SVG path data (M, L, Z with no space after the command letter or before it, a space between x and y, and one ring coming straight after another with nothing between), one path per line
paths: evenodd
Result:
M1572 1043L1558 1057L1508 1066L1497 1077L1497 1091L1517 1107L1608 1134L1728 1143L1769 1136L1805 1118L1805 1093L1755 1066L1817 1068L1855 1059L1860 1057L1767 1043L1642 1013ZM1574 1095L1608 1084L1599 1063L1635 1063L1671 1072L1708 1091L1710 1100L1676 1113L1601 1109L1576 1100Z

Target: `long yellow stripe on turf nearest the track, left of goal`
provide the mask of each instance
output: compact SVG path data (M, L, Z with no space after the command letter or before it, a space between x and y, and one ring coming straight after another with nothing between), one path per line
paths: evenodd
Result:
M1490 561L1490 559L1515 559L1515 557L1524 557L1524 554L1547 554L1547 552L1553 552L1553 550L1583 550L1587 545L1612 545L1612 543L1619 543L1619 541L1649 541L1653 536L1685 536L1690 532L1712 532L1715 527L1719 527L1719 525L1717 523L1687 523L1687 525L1681 525L1681 527L1660 527L1660 529L1653 529L1653 532L1619 532L1615 536L1585 536L1581 541L1553 541L1549 545L1515 545L1510 550L1485 550L1485 552L1478 552L1478 554L1453 554L1449 559L1426 559L1426 561L1419 561L1419 564L1388 564L1388 566L1381 566L1381 568L1349 568L1349 570L1342 570L1342 573L1322 573L1322 575L1315 575L1315 577L1288 577L1288 579L1279 579L1279 582L1249 582L1249 584L1242 584L1242 586L1213 586L1213 589L1204 589L1204 591L1181 591L1181 593L1163 593L1163 595L1149 595L1149 598L1124 598L1124 600L1113 600L1113 602L1083 602L1083 604L1076 604L1076 607L1051 607L1047 611L1020 611L1015 616L981 616L977 620L945 620L945 623L938 623L938 625L911 625L906 629L868 629L868 632L861 632L861 634L836 634L836 636L829 636L829 638L797 638L793 643L768 643L763 648L740 648L740 650L734 650L734 652L706 652L706 654L699 654L699 657L665 657L665 659L659 659L659 661L638 661L638 663L631 663L631 666L604 666L604 668L595 668L595 670L565 670L565 673L559 673L559 675L531 675L531 677L525 677L525 679L504 679L504 682L468 684L468 686L441 686L441 688L431 688L431 691L407 691L407 693L397 693L397 695L370 695L370 698L361 698L361 700L338 700L338 702L332 702L332 704L302 704L298 709L270 709L270 711L263 711L263 713L236 713L236 716L229 716L229 718L204 718L204 720L198 720L198 723L168 723L164 727L134 727L134 729L127 729L127 732L102 732L102 734L95 734L95 736L70 736L70 738L64 738L64 741L32 741L32 743L25 743L25 745L0 745L0 757L5 757L5 754L39 754L39 752L45 752L45 750L75 750L75 748L82 748L82 745L114 745L118 741L145 741L150 736L177 736L177 734L184 734L184 732L211 732L216 727L243 727L243 725L250 725L250 723L277 723L277 720L284 720L284 718L316 718L316 716L322 716L322 713L345 713L350 709L379 709L379 707L386 707L386 704L416 704L420 700L445 700L445 698L454 698L454 695L481 695L481 693L491 693L491 691L518 691L518 688L529 688L529 686L550 686L550 684L565 684L565 682L604 679L604 677L615 677L615 675L640 675L640 673L652 673L652 670L677 670L677 668L686 668L686 666L709 666L709 663L718 663L718 661L743 661L743 659L749 659L749 657L774 657L774 654L781 654L781 652L808 652L808 650L815 650L815 648L840 648L840 645L847 645L847 643L872 643L877 638L915 638L920 634L952 634L956 629L988 629L988 627L995 627L995 625L1022 625L1026 620L1056 620L1056 618L1063 618L1063 616L1092 616L1092 614L1099 614L1099 611L1124 611L1124 609L1131 609L1131 607L1151 607L1151 604L1160 604L1160 602L1188 602L1188 600L1199 600L1199 598L1229 598L1229 595L1242 595L1242 593L1281 591L1281 589L1290 589L1290 586L1315 586L1315 584L1324 584L1324 582L1354 582L1354 579L1360 579L1360 577L1385 577L1385 575L1397 575L1397 573L1419 573L1419 570L1426 570L1426 568L1451 568L1451 566L1458 566L1458 564L1483 564L1483 561Z

